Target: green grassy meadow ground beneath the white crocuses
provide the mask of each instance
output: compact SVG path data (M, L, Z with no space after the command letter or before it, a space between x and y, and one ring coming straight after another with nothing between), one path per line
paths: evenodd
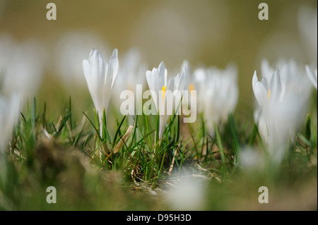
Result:
M57 121L47 107L34 99L20 115L2 159L1 209L317 209L317 124L310 115L281 165L242 168L245 146L266 149L257 126L235 115L216 128L215 138L202 121L180 123L173 116L155 144L156 116L138 116L128 138L123 116L100 137L94 116L74 118L71 98ZM57 190L56 204L47 203L49 186ZM259 203L261 186L269 189L268 204Z

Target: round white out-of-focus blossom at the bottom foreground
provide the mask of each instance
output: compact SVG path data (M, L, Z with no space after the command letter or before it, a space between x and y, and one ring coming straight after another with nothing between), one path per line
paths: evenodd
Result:
M203 181L192 177L180 178L174 188L165 193L165 200L172 210L202 210L206 204Z

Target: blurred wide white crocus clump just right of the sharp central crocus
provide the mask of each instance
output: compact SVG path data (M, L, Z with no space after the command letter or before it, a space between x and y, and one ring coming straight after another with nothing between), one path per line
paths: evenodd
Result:
M214 135L214 125L226 122L228 114L237 105L237 68L232 64L224 70L215 67L197 68L189 90L196 90L197 107L204 115L208 132Z

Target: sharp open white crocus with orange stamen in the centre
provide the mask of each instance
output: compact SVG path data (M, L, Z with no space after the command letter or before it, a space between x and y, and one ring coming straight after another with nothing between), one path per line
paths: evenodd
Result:
M185 83L185 69L182 70L181 75L178 73L175 78L170 78L167 82L167 69L165 63L161 62L158 68L153 68L153 71L146 71L146 80L155 107L160 115L159 139L161 139L168 118L174 109L178 109L181 102L181 94Z

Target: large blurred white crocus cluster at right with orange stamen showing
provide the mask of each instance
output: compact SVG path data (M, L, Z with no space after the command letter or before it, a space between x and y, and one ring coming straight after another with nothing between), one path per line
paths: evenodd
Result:
M253 92L259 104L254 119L273 162L283 159L288 141L305 116L310 95L308 80L303 74L305 70L298 69L294 61L281 65L275 71L264 60L261 63L261 81L256 71L252 78Z

